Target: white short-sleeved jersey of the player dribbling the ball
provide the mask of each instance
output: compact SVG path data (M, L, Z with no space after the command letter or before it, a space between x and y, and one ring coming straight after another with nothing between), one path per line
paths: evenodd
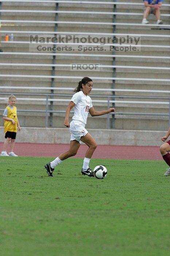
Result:
M73 120L81 121L86 124L89 109L92 108L92 99L85 95L82 91L75 93L70 101L73 101L76 105L74 106Z

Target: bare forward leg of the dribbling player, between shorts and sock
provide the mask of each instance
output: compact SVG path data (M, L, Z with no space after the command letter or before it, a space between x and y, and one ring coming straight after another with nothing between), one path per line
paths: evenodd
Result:
M93 139L92 135L90 135L89 133L87 133L85 136L82 136L81 141L84 142L89 147L88 150L86 151L85 157L91 158L94 153L94 150L97 148L96 141Z

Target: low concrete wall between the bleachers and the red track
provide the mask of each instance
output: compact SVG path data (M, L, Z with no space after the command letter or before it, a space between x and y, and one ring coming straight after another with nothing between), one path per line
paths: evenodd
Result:
M161 137L167 131L139 131L139 130L107 130L88 129L97 144L127 145L127 146L161 146ZM70 143L68 128L36 128L23 127L17 133L17 142L21 143ZM0 127L0 142L4 142L4 127Z

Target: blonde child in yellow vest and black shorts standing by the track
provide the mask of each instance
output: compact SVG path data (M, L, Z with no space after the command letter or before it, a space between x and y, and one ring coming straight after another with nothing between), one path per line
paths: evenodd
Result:
M16 139L16 133L17 133L17 127L20 131L20 125L17 117L17 109L16 109L16 97L11 94L8 99L8 106L5 108L3 113L3 119L4 119L4 131L5 131L5 142L3 146L3 151L1 152L1 156L8 157L9 155L11 157L18 157L13 152L15 139ZM10 143L10 152L7 154L7 146Z

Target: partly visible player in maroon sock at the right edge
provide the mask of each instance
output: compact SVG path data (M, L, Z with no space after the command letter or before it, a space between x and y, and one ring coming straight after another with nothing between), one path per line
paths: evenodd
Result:
M161 138L161 140L163 142L165 142L165 140L167 140L169 135L170 135L170 127L169 127L169 130L167 131L166 135L163 136ZM170 154L169 154L169 151L170 151L170 140L163 143L160 147L160 152L161 152L161 155L163 157L163 160L167 163L167 165L169 165L169 168L166 169L166 172L164 173L164 176L170 176Z

